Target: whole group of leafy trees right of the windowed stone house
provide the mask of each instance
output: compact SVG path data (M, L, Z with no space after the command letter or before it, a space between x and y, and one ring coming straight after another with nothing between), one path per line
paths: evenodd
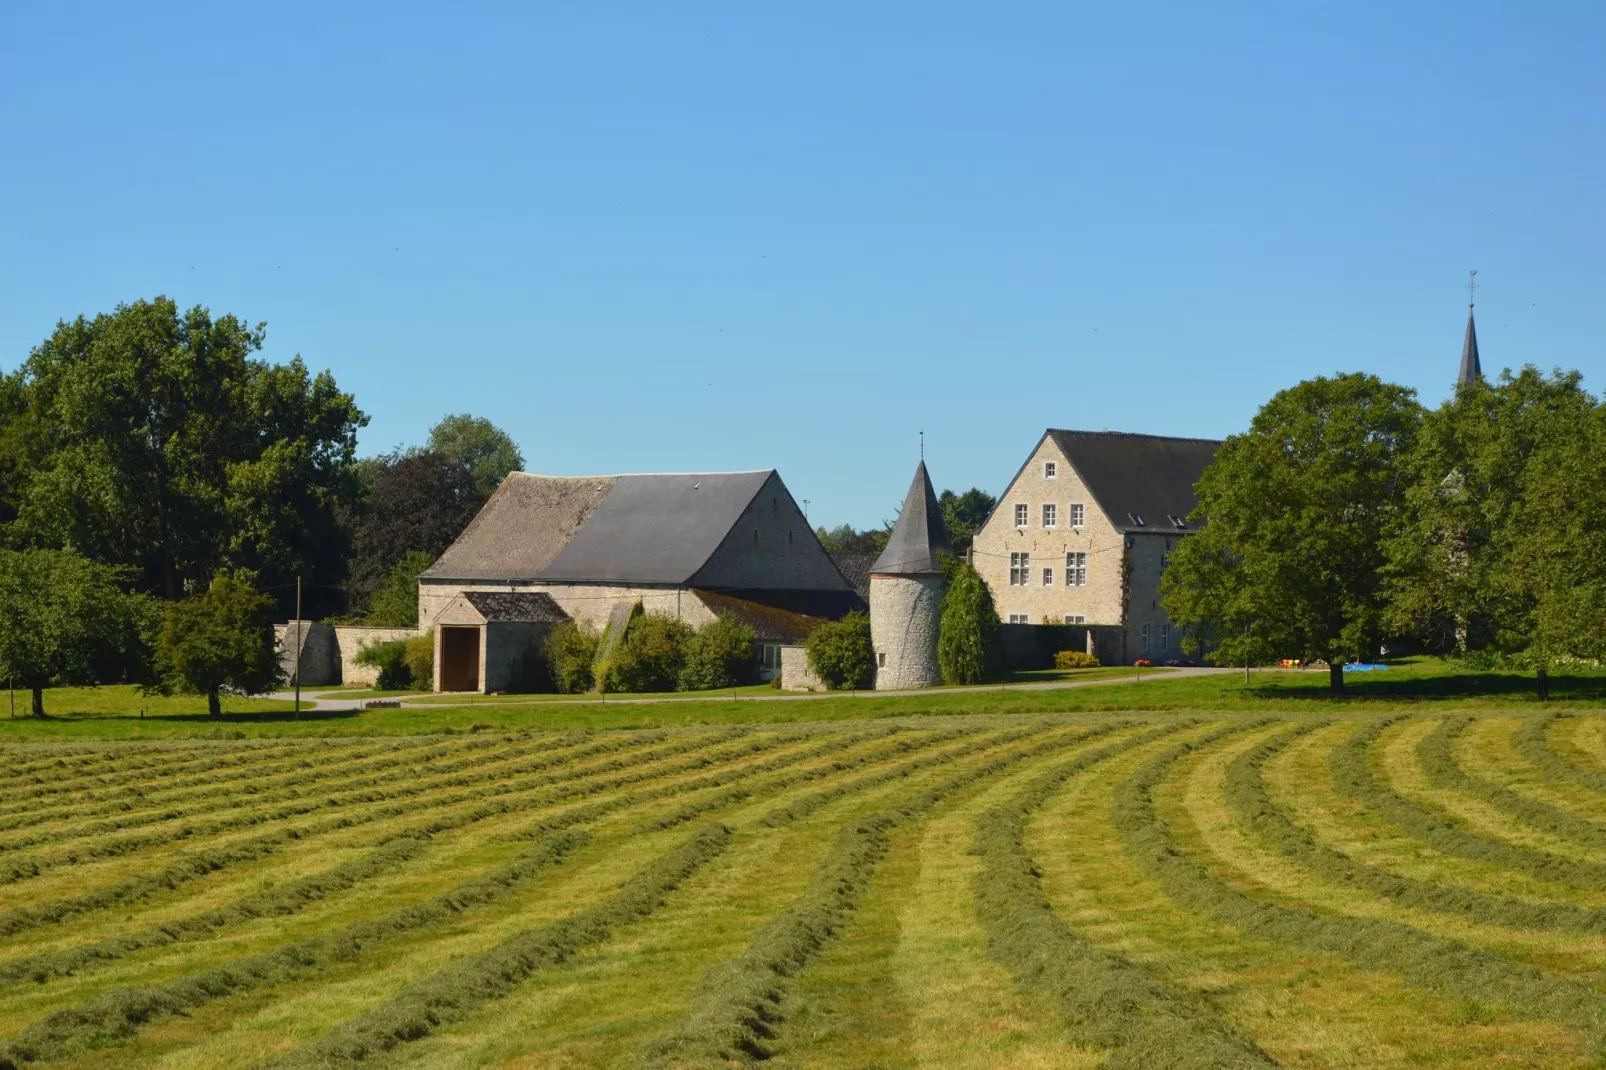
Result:
M1548 673L1606 655L1606 405L1577 371L1301 382L1229 437L1161 578L1184 649L1343 664L1384 649Z

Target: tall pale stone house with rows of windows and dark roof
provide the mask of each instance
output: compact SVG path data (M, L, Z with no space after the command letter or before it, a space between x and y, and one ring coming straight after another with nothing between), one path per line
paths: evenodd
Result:
M1107 664L1182 657L1160 574L1198 530L1193 484L1219 442L1046 431L976 532L973 561L1005 623L1087 625Z

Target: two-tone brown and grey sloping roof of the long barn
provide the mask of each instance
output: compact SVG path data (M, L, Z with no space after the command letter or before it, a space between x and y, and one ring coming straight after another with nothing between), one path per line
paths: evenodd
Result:
M512 472L422 578L686 583L771 476Z

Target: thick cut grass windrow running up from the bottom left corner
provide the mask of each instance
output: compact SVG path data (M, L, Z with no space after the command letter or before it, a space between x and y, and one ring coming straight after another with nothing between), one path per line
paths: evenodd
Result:
M40 1019L0 1043L0 1070L63 1059L87 1048L106 1048L127 1041L146 1025L190 1014L214 999L313 977L339 962L360 958L385 940L446 924L464 911L495 903L514 887L559 864L586 840L588 837L578 831L559 832L535 843L512 863L427 903L403 906L384 917L360 921L337 932L234 959L167 985L114 988Z

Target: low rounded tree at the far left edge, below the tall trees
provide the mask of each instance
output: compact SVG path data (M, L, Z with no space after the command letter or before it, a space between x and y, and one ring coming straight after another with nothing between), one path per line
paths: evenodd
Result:
M148 612L120 574L64 549L0 549L0 678L34 692L104 683L140 646Z

